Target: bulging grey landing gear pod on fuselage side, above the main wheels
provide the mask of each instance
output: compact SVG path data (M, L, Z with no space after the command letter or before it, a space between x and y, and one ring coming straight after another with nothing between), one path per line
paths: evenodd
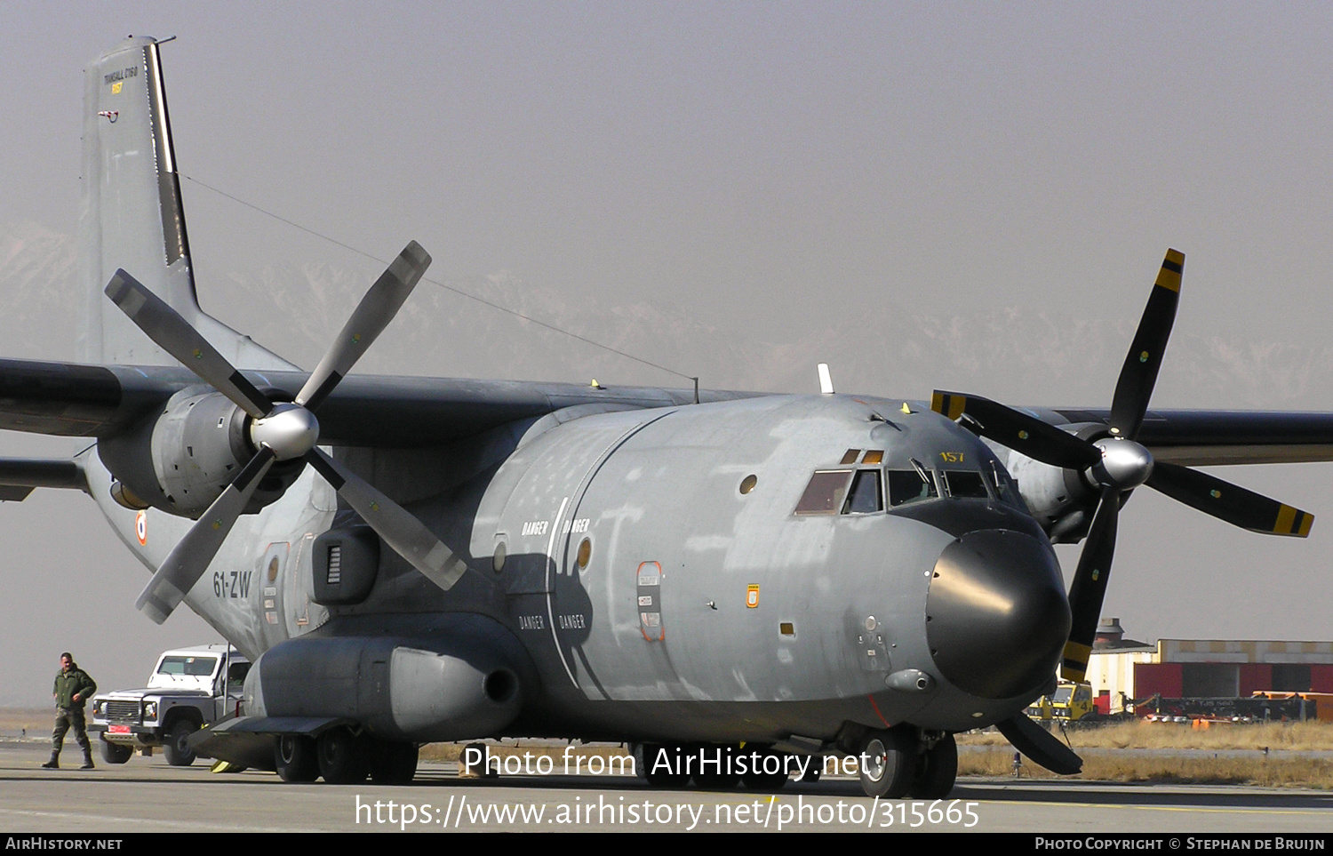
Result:
M435 621L420 636L280 643L245 677L245 715L351 719L387 740L499 733L536 692L527 653L493 619L452 613Z

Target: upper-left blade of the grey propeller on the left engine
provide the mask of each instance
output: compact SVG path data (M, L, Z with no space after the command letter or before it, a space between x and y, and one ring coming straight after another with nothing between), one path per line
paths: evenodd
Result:
M116 271L105 291L111 301L157 347L208 381L236 407L255 419L263 419L273 409L268 396L256 389L189 321L143 283L124 271Z

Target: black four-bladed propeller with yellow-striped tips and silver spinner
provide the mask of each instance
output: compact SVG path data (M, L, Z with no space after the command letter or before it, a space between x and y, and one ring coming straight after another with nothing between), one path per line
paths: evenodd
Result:
M1044 464L1086 473L1100 487L1088 540L1069 587L1073 624L1061 665L1061 675L1068 681L1081 681L1088 669L1116 553L1120 505L1129 491L1146 484L1218 520L1266 535L1305 537L1314 520L1313 515L1216 476L1153 461L1152 453L1136 441L1176 321L1184 271L1184 253L1168 249L1116 381L1109 436L1084 440L1036 416L978 396L936 391L932 400L932 408L949 419L966 415L968 427L976 433Z

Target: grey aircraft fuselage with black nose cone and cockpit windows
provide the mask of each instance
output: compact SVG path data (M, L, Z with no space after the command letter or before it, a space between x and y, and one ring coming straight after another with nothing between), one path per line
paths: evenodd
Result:
M557 412L492 437L477 456L495 465L431 496L412 492L439 487L432 455L353 451L349 464L467 557L459 585L440 591L389 549L371 551L371 568L347 551L340 573L368 575L368 592L317 603L315 539L349 515L307 472L241 519L188 600L252 657L308 633L440 651L432 639L448 648L460 631L431 616L485 616L496 627L476 633L512 636L528 660L513 664L521 704L504 733L828 741L848 723L972 728L1041 691L1068 604L990 449L908 409L772 396ZM416 480L385 477L404 467ZM189 523L148 511L140 544L133 512L103 505L149 565L155 535L169 545ZM972 559L960 569L941 560L950 549ZM399 719L403 736L441 739Z

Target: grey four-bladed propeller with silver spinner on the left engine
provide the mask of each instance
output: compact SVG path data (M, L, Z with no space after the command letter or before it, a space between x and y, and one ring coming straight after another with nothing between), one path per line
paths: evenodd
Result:
M431 256L416 241L399 253L361 299L293 403L272 401L175 309L135 277L116 271L107 284L107 296L153 343L251 416L249 437L257 449L168 553L139 596L135 605L153 621L165 621L184 600L217 555L269 468L287 460L300 459L313 467L385 544L441 589L448 591L459 581L465 565L435 533L411 512L316 448L320 427L315 412L389 325L429 264Z

